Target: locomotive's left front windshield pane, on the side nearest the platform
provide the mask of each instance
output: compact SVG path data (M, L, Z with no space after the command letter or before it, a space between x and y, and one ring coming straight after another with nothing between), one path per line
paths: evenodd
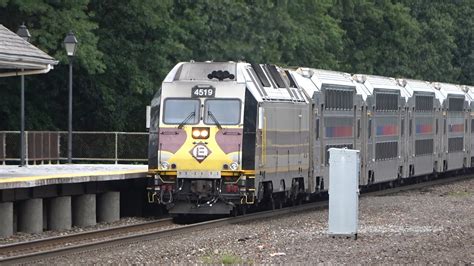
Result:
M199 122L199 100L166 99L163 122L166 124L197 124Z

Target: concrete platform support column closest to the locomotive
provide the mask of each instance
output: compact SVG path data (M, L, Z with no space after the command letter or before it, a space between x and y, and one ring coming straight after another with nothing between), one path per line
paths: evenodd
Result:
M115 222L120 220L120 192L106 192L97 198L97 221Z

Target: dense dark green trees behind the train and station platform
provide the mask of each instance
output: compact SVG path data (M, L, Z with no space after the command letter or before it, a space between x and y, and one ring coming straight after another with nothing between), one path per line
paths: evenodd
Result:
M474 1L0 0L60 64L26 78L27 129L67 128L62 45L79 40L74 130L143 131L145 106L179 61L245 60L474 84ZM19 129L19 78L0 79L0 129Z

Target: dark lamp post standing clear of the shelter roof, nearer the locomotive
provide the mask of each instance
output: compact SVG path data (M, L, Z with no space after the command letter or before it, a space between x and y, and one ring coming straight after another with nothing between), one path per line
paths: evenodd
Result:
M77 39L74 33L70 31L64 38L64 48L69 59L69 119L68 119L68 138L67 138L67 162L72 163L72 62L76 54Z

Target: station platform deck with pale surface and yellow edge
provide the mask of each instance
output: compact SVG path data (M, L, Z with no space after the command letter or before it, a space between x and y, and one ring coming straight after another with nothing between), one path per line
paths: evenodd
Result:
M0 190L146 177L147 165L47 164L0 166Z

